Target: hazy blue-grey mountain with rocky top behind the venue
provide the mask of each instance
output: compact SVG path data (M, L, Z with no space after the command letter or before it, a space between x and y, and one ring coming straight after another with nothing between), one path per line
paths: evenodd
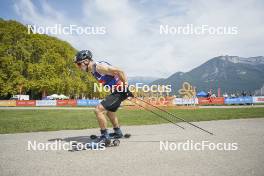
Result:
M264 85L264 57L218 56L189 72L176 72L150 84L170 84L172 93L178 94L183 82L191 83L196 91L212 89L216 93L219 87L222 93L254 93Z

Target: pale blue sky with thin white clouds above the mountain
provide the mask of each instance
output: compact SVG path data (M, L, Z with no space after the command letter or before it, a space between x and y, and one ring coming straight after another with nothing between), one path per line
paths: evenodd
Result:
M0 17L37 26L103 26L105 34L55 35L128 76L168 77L219 55L264 55L262 0L1 0ZM160 25L229 26L236 35L160 34Z

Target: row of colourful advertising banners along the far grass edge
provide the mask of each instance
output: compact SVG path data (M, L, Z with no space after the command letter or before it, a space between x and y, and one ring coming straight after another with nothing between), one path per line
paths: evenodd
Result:
M90 99L78 99L78 100L0 100L0 106L96 106L102 100L90 100ZM170 103L171 102L171 103ZM153 103L153 100L150 101ZM239 105L239 104L259 104L264 103L264 96L247 96L236 98L173 98L164 101L155 101L153 104L169 106L169 105ZM123 105L131 105L131 103L125 101Z

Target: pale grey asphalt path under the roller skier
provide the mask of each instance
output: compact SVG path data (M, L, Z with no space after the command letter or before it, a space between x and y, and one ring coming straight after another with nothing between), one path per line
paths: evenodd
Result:
M48 143L61 139L63 143L70 140L83 142L88 140L88 135L96 134L98 130L2 134L0 175L264 175L264 118L195 124L213 131L215 135L211 136L186 124L182 124L185 130L170 124L129 126L123 127L123 131L131 133L131 138L121 140L118 147L70 152L28 150L28 141ZM171 146L175 146L188 140L194 143L237 143L237 150L160 150L160 141L169 141Z

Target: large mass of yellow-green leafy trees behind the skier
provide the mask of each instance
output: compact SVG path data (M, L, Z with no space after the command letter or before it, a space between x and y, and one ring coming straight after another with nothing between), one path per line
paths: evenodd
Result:
M96 80L73 64L75 53L65 41L28 34L24 25L0 19L0 97L22 90L34 99L53 93L102 98L106 93L93 92Z

